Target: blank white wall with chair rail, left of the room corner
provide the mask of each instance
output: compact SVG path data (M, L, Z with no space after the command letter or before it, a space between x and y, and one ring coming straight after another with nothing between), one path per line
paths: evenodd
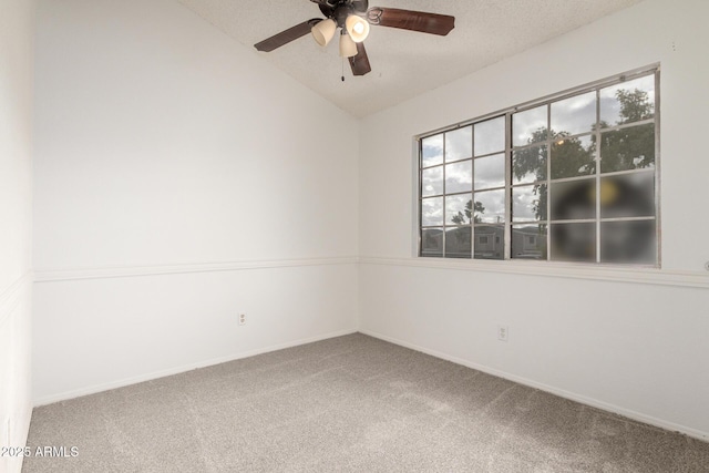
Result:
M354 119L171 0L38 30L37 402L356 329Z

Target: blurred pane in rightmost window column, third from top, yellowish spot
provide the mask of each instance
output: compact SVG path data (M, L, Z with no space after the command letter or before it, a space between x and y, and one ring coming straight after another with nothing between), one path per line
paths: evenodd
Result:
M625 174L600 179L600 218L655 216L655 175Z

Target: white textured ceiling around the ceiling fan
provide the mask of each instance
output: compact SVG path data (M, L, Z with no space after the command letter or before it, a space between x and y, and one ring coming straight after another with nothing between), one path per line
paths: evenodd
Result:
M641 0L370 0L370 7L455 17L446 37L372 27L364 42L372 72L352 76L337 38L326 48L311 35L273 52L253 44L320 10L309 0L177 0L254 54L273 62L342 110L361 117L467 75Z

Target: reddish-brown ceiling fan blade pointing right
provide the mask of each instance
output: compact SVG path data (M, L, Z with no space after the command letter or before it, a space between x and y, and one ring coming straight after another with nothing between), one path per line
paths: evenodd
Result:
M367 11L367 20L380 27L400 28L441 37L455 28L455 17L397 8L372 7Z

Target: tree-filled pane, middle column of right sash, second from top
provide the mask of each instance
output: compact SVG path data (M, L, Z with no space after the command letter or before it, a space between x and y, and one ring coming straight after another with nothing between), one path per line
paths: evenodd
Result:
M590 135L555 137L552 143L552 178L585 176L596 173L596 145Z

